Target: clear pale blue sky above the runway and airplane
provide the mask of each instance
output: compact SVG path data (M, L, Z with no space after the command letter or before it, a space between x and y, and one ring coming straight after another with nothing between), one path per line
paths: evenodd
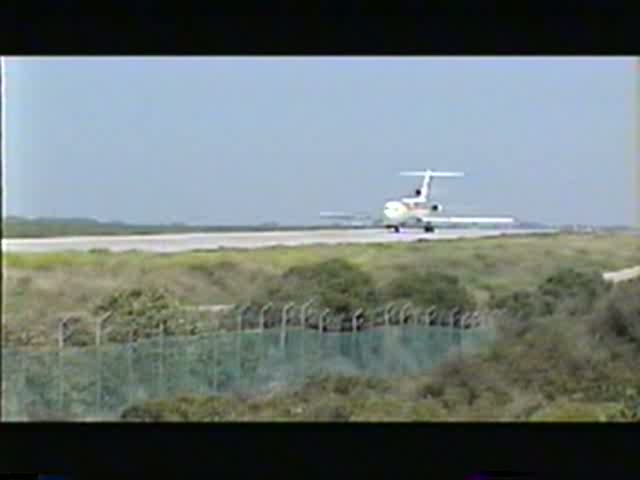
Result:
M630 223L634 61L9 58L7 213L314 223L433 168L460 213Z

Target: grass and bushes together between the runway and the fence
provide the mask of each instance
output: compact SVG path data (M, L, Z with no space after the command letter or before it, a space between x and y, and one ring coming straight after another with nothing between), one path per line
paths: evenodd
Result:
M179 254L7 253L3 338L11 345L55 346L57 322L72 314L78 333L69 341L87 345L93 341L95 320L110 310L116 326L112 341L124 341L124 331L134 323L142 334L155 335L161 318L169 333L197 333L199 326L187 328L189 322L179 322L195 315L180 311L180 306L300 304L311 298L316 311L330 308L336 313L363 308L366 314L375 305L403 300L424 307L499 307L519 315L547 315L558 302L558 292L575 297L576 308L591 305L607 288L592 285L593 278L636 264L640 242L624 235ZM582 283L594 290L584 290ZM571 293L574 284L583 293ZM208 321L203 314L196 316Z

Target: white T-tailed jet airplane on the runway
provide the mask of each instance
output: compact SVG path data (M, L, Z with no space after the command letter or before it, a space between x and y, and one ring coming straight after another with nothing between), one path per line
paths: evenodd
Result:
M434 225L459 225L459 224L505 224L514 223L512 217L445 217L435 215L442 212L442 204L431 200L431 182L434 178L462 177L462 172L437 172L433 170L401 172L400 175L423 177L421 188L416 189L415 197L392 200L384 204L382 221L387 229L399 232L400 227L409 221L417 221L423 224L427 233L435 232ZM336 212L337 213L337 212ZM333 216L331 213L322 214L325 218L362 218L362 214L352 215L340 212Z

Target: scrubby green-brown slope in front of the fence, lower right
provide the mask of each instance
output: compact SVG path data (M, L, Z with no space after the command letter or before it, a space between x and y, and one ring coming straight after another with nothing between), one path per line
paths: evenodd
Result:
M592 301L588 293L598 285L597 280L571 286L558 281L574 275L576 272L560 272L532 290L534 303L549 305L548 310L505 321L493 345L445 361L428 375L390 379L323 376L309 379L302 388L262 396L149 401L130 406L121 418L638 421L640 282L620 284ZM549 285L557 288L555 292L569 287L568 295L563 296L566 301L547 304Z

